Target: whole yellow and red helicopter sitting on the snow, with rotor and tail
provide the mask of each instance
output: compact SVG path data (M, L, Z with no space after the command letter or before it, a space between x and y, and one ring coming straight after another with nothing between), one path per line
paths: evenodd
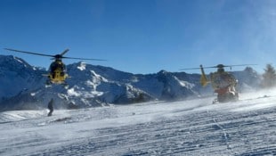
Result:
M213 103L226 103L233 102L239 100L239 93L236 91L236 86L238 84L238 79L236 79L232 74L225 72L225 67L230 67L230 69L234 66L250 66L256 64L239 64L239 65L223 65L218 64L216 66L203 67L199 65L199 68L191 68L191 69L181 69L181 70L200 70L201 76L199 79L199 83L201 86L207 86L211 84L214 89L215 94L217 94L216 99ZM216 68L216 72L211 72L209 78L205 74L204 69Z

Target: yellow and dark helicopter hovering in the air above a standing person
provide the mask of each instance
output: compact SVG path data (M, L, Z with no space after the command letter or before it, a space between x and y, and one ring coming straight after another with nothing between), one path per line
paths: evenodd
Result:
M33 52L21 51L21 50L16 50L16 49L11 49L11 48L4 48L4 50L18 52L18 53L28 53L28 54L52 57L52 60L54 60L54 61L50 65L49 73L43 75L48 78L48 80L46 81L46 87L51 86L52 84L61 84L65 87L68 87L68 84L66 83L66 78L70 78L70 77L69 77L68 73L66 72L66 65L62 62L62 59L106 61L106 60L101 60L101 59L86 59L86 58L76 58L76 57L64 56L65 53L69 52L69 49L65 49L62 53L55 54L55 55L45 54L45 53L33 53Z

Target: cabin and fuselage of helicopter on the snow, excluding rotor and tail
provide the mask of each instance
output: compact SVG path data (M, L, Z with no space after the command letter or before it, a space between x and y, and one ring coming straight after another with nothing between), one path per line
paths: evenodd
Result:
M238 100L239 94L235 89L238 80L232 74L224 71L223 64L217 65L215 73L210 73L210 81L215 93L217 93L218 102Z

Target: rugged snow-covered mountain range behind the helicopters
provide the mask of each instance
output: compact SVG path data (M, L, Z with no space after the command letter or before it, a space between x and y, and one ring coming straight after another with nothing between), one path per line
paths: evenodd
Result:
M132 74L85 62L69 64L69 88L45 88L45 69L14 56L0 55L0 111L45 108L51 98L56 108L76 109L106 104L176 101L212 94L199 85L199 74L168 72ZM258 86L256 71L235 71L239 91Z

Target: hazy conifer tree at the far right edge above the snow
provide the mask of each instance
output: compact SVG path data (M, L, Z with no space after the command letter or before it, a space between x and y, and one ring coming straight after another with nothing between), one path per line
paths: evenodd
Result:
M264 69L262 87L273 86L276 86L276 70L272 67L272 64L267 64L266 69Z

